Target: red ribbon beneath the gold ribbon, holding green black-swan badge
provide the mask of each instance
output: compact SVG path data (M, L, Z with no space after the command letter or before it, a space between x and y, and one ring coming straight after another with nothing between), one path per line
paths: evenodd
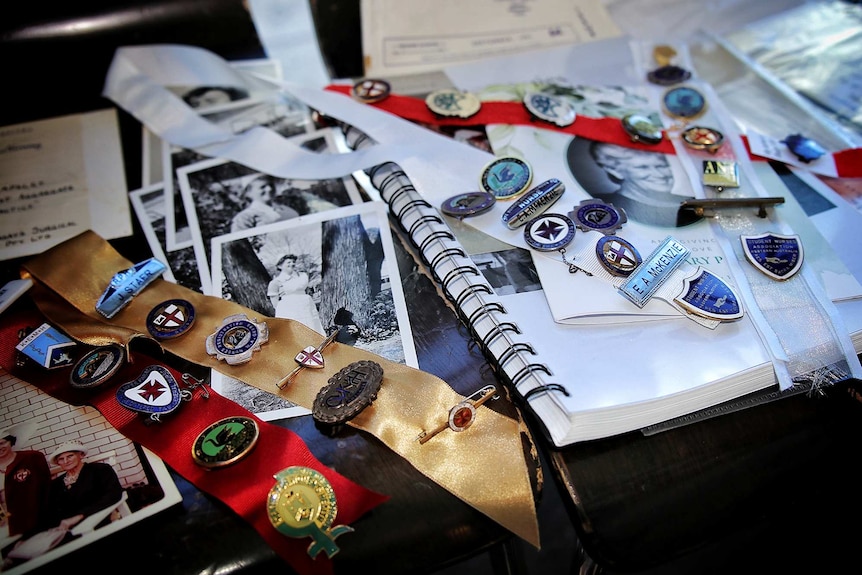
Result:
M18 331L25 327L38 327L44 321L32 305L16 304L3 313L0 365L6 371L61 401L72 405L89 404L98 409L117 431L151 450L198 489L223 501L248 521L298 573L330 575L332 562L323 553L312 559L307 553L310 539L285 537L270 523L266 499L275 485L275 473L294 465L322 473L332 485L338 502L337 525L349 525L389 499L323 465L294 432L258 419L215 392L204 398L202 390L196 389L194 399L183 402L158 424L145 425L144 415L126 409L116 399L118 385L136 379L148 366L163 365L163 362L143 353L133 352L129 361L112 378L111 384L94 390L73 388L69 384L68 369L45 370L31 362L24 368L17 367L15 346L18 344ZM170 366L164 367L178 382L182 381L180 373ZM194 463L191 448L198 434L210 424L232 416L251 417L257 421L260 436L251 453L241 461L219 469L207 470ZM349 536L344 535L345 542ZM339 541L339 544L345 542Z

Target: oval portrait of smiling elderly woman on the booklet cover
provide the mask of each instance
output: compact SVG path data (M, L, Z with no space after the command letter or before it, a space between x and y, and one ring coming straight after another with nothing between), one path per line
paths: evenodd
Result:
M566 149L572 177L592 197L622 208L629 220L653 227L683 227L699 221L679 204L694 193L679 160L648 152L572 138Z

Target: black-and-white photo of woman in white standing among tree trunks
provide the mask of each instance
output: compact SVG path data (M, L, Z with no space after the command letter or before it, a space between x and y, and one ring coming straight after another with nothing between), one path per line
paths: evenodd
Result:
M299 321L321 337L337 332L340 343L418 367L381 202L216 237L213 282L224 299ZM225 394L215 381L213 389ZM254 411L249 394L227 397Z

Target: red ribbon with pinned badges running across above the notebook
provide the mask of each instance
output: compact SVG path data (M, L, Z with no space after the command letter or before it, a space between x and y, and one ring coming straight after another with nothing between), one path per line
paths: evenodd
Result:
M331 92L338 92L350 96L351 86L342 84L331 84L326 87ZM589 116L578 115L573 124L565 127L557 126L550 122L537 120L520 102L482 102L482 107L479 111L469 118L452 118L442 117L434 114L428 109L425 101L412 96L401 96L398 94L390 94L383 100L368 104L380 110L384 110L391 114L395 114L405 120L410 120L419 124L431 126L487 126L489 124L512 124L516 126L533 126L544 128L546 130L555 130L595 140L598 142L607 142L618 146L626 146L639 150L647 150L650 152L661 152L663 154L675 154L676 151L673 143L664 138L658 144L641 144L633 142L631 137L622 127L622 123L617 118L592 118ZM746 147L748 147L748 139L745 135L742 136ZM767 160L751 154L753 160ZM835 160L835 168L838 176L841 178L862 178L862 148L850 148L841 150L832 154Z

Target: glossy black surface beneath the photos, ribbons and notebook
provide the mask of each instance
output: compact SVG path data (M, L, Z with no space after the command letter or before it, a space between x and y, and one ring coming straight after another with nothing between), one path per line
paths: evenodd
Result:
M361 75L358 6L358 1L312 2L321 46L337 77ZM136 2L129 5L129 12L108 2L85 2L55 8L50 17L35 5L24 7L21 14L7 14L3 24L0 61L16 83L6 90L8 104L0 108L0 125L110 107L99 93L112 47L118 45L183 42L227 59L263 55L238 0ZM82 14L112 17L103 21L103 28L78 36L68 28L48 25L74 21ZM136 181L140 127L122 111L119 117L129 189L135 189L140 184ZM134 237L112 243L139 261L146 243L135 225ZM417 265L409 246L397 243L403 262ZM15 264L4 263L3 281L17 277ZM470 345L467 330L458 325L428 276L420 273L410 281L415 282L409 288L416 293L433 295L409 310L411 318L422 317L437 326L416 334L423 369L462 393L493 381L481 353ZM427 303L431 300L433 305ZM453 364L451 356L441 356L436 352L441 346L463 346L468 351L462 354L464 363ZM748 552L754 558L752 566L811 567L828 563L829 558L852 561L862 532L856 521L862 503L856 493L860 474L855 465L862 406L850 393L857 383L836 386L825 396L798 395L653 436L631 433L565 449L552 448L543 440L541 426L529 414L527 419L546 458L545 478L560 487L583 549L603 568L635 572L692 557L689 565L696 565L698 572L718 572L738 561L715 560L721 557L716 546L722 545L734 553ZM519 416L515 405L500 405L498 409ZM357 544L345 546L337 556L337 568L428 572L509 539L498 525L421 476L374 437L351 429L335 440L323 436L310 418L279 424L297 431L324 464L393 497L356 526L368 528L351 535ZM374 464L351 464L357 453ZM381 473L389 469L397 473ZM176 480L182 506L124 530L124 542L126 537L128 541L152 537L160 549L146 562L129 562L128 569L191 573L226 565L249 572L283 568L241 519L182 478ZM111 537L88 552L110 554L115 545ZM573 553L577 545L573 540ZM383 556L381 546L387 549ZM704 557L701 563L699 553ZM49 568L74 566L79 555ZM595 565L588 562L591 566Z

